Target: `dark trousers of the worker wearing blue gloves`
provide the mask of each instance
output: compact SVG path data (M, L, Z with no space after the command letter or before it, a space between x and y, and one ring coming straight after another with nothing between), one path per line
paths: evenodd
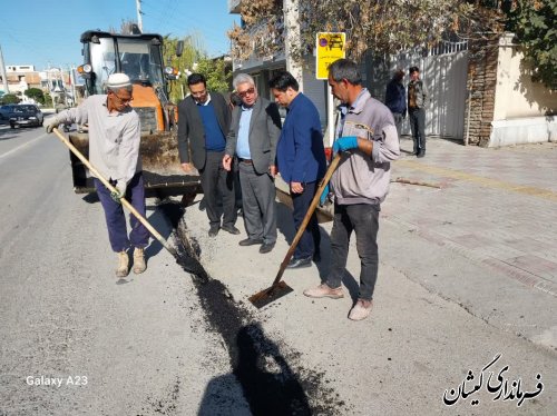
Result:
M371 300L378 279L379 205L335 205L331 231L331 271L325 283L329 287L341 286L346 268L350 236L355 232L355 247L360 256L359 299Z

